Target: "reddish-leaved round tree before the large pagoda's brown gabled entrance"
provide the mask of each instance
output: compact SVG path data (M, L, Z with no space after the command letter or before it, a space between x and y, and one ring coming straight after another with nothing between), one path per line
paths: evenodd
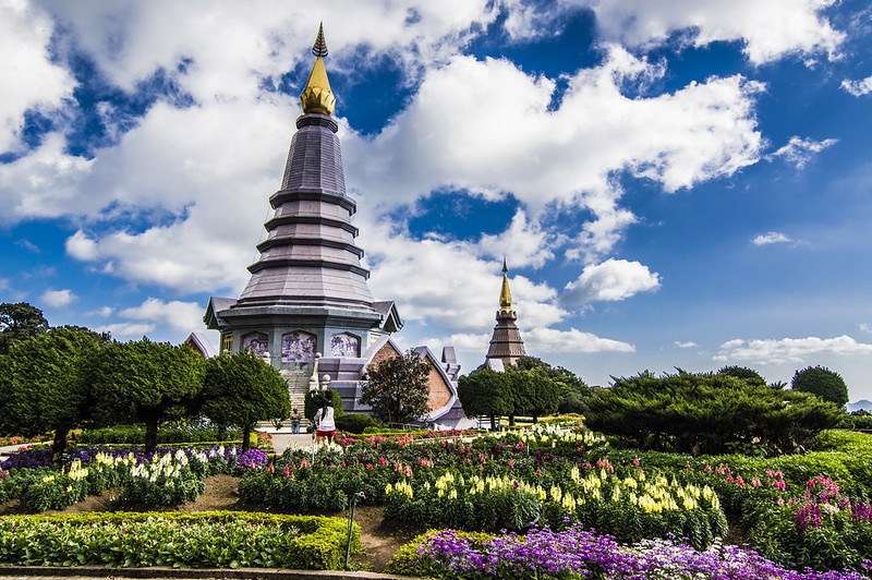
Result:
M361 404L388 423L409 423L429 413L431 366L415 352L391 357L367 367L370 380L361 388Z

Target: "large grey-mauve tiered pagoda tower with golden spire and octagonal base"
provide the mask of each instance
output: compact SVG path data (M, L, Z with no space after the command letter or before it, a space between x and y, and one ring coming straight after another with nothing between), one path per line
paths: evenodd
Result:
M300 96L281 189L269 197L272 217L264 225L259 259L238 300L213 298L204 322L221 333L221 352L253 350L304 392L315 354L360 358L402 326L393 302L376 302L361 266L363 250L350 218L356 204L346 194L342 154L332 119L336 98L318 28L315 64Z

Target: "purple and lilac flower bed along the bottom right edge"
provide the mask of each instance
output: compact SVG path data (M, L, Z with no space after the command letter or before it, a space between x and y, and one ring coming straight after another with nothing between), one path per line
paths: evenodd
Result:
M865 569L872 567L867 560ZM488 536L452 530L428 532L401 548L388 573L467 580L474 578L564 579L694 578L700 580L860 580L858 572L797 572L755 552L715 544L706 551L670 540L621 545L609 535L573 525L561 532L531 530Z

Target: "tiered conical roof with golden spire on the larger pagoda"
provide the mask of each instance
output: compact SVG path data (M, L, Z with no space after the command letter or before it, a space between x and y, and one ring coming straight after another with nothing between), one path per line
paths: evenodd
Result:
M281 189L269 198L275 209L257 245L261 257L234 307L255 305L329 306L373 312L373 297L354 245L358 229L350 218L355 203L346 195L342 154L330 117L336 99L323 57L324 31L312 49L317 57L300 97Z

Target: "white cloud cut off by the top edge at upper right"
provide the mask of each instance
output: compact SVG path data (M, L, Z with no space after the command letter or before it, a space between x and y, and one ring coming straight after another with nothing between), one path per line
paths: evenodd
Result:
M606 40L651 47L674 33L693 46L738 41L754 64L787 55L839 57L845 33L823 14L835 0L565 0L589 5Z

